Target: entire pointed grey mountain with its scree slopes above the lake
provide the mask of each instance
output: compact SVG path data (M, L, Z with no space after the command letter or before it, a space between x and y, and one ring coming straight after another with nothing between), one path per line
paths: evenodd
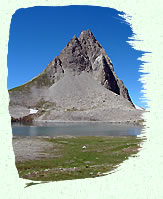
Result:
M13 117L18 117L17 106L38 109L40 120L65 120L66 114L66 118L81 120L86 112L83 120L100 120L100 115L94 117L99 108L135 110L127 88L90 30L74 36L40 75L9 94ZM109 117L106 114L103 120Z

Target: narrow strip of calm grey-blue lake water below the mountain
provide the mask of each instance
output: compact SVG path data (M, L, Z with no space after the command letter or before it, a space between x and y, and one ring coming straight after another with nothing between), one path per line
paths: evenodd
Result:
M13 124L13 135L23 136L136 136L142 126L111 123L55 123L44 126Z

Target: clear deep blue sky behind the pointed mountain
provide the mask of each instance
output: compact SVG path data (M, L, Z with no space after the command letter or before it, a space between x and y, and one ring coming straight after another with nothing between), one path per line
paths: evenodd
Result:
M32 7L12 16L8 44L8 89L19 86L39 73L82 30L91 30L113 62L117 76L129 90L133 103L141 101L137 60L144 52L126 41L133 35L130 26L111 8L95 6Z

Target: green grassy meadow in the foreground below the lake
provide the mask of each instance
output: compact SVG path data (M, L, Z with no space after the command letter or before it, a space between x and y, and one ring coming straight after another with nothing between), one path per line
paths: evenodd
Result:
M52 144L51 149L42 151L51 157L16 162L21 178L46 182L103 176L130 156L135 156L143 141L135 136L39 139Z

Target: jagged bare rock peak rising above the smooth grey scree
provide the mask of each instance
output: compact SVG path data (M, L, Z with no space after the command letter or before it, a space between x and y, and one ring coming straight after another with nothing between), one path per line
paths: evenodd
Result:
M110 58L91 31L83 31L79 38L74 36L61 54L49 64L46 72L50 82L57 82L66 69L74 75L79 75L82 71L91 73L105 88L131 102L127 88L116 76Z

